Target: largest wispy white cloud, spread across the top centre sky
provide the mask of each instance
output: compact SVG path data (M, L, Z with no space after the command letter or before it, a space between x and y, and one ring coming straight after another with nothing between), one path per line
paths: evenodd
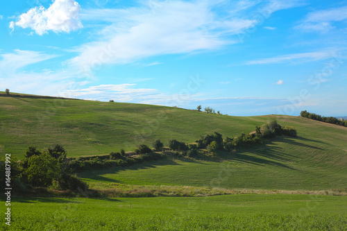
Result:
M225 35L242 33L255 20L226 15L218 17L218 2L158 1L157 5L126 9L84 10L87 22L112 22L99 32L99 42L77 48L71 63L82 69L103 64L124 64L154 55L220 49L235 43ZM98 33L98 32L96 32ZM235 39L236 41L236 39Z

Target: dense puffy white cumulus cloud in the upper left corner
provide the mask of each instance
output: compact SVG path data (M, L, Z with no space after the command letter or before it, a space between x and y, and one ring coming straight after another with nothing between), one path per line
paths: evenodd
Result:
M56 0L47 9L43 6L31 8L20 15L17 22L11 22L10 28L30 27L38 35L47 31L69 33L83 27L79 19L80 10L80 5L74 0Z

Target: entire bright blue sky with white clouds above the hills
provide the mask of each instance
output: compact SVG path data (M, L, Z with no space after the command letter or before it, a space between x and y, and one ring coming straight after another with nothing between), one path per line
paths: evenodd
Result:
M0 2L0 89L347 115L347 1Z

